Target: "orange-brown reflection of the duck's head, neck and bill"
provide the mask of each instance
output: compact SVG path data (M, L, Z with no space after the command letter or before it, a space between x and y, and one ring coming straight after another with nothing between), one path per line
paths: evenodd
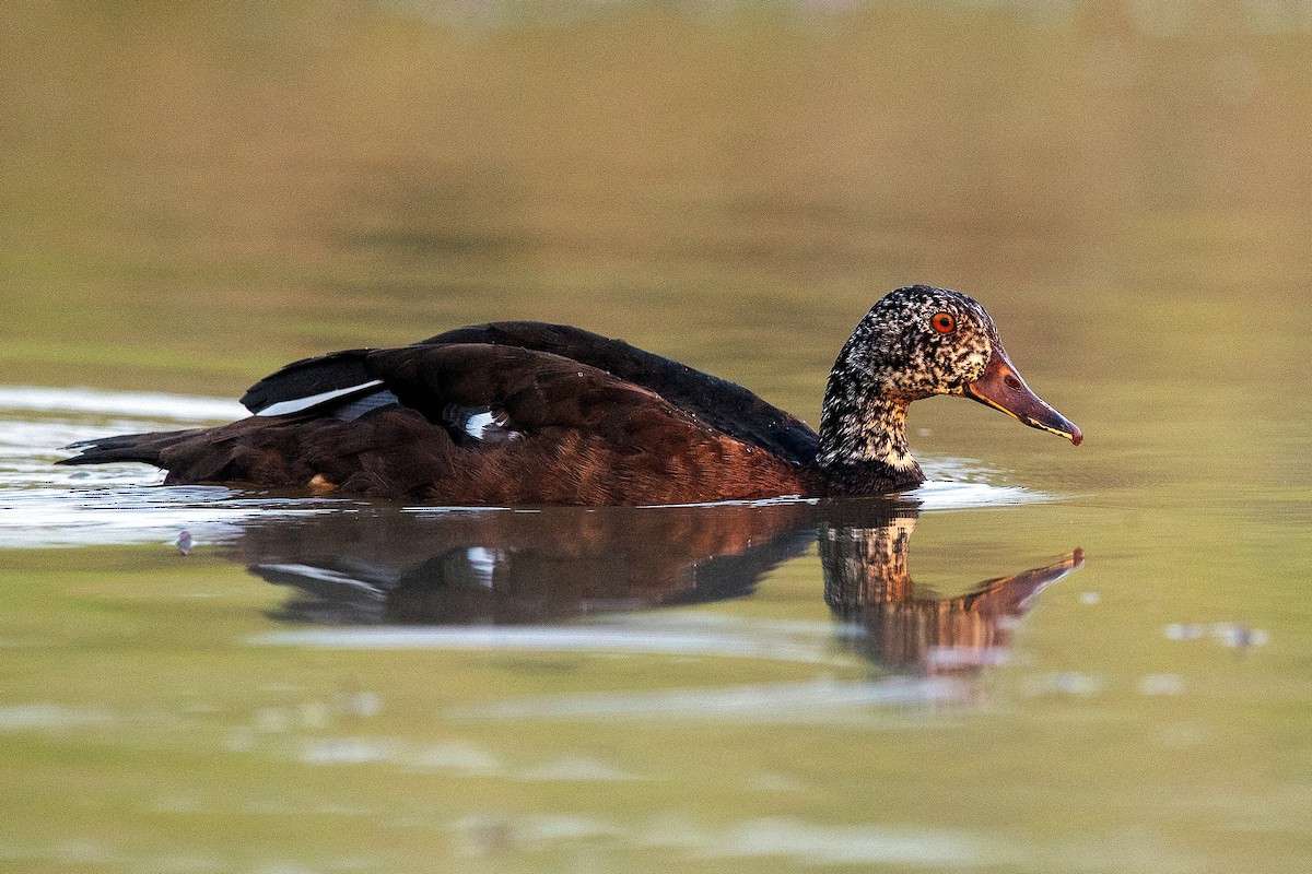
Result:
M821 524L820 558L825 601L834 615L859 625L851 638L862 655L892 671L971 672L1005 658L1012 630L1033 598L1077 570L1084 552L1030 570L987 580L958 598L917 592L907 554L916 518L857 528Z

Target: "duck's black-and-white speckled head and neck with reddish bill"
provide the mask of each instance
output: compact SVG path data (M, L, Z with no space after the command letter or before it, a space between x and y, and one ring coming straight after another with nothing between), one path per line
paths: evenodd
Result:
M924 482L907 447L907 406L934 394L963 394L1077 446L1082 439L1025 385L977 301L908 286L870 309L829 375L817 461L836 491Z

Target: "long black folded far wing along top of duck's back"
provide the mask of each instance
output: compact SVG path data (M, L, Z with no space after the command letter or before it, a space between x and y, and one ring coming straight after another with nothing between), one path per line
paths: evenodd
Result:
M656 392L698 421L792 464L815 463L819 439L802 419L748 389L621 339L546 322L508 321L458 328L421 345L492 343L551 352Z

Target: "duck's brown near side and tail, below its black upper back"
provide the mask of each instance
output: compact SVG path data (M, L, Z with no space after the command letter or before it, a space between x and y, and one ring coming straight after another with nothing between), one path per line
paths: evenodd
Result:
M324 390L297 411L93 440L66 463L146 461L169 484L464 506L694 503L819 487L810 469L656 392L550 352L442 343L331 358L320 375L337 368L350 385L318 379L310 364L315 381L302 384Z

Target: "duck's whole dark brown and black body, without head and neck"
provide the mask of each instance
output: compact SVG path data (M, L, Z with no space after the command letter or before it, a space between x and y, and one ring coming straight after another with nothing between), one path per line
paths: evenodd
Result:
M169 482L245 481L451 504L686 503L813 494L816 436L747 389L558 325L463 328L289 364L257 415L100 442Z

